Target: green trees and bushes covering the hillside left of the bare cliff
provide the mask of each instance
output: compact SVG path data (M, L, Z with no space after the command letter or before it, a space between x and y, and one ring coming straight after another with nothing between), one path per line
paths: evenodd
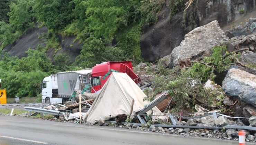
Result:
M41 81L51 73L93 67L103 61L142 61L140 35L144 24L157 22L164 0L2 0L0 1L0 72L8 97L37 96ZM3 48L29 28L46 26L46 46L28 50L28 57L11 57ZM75 62L61 49L60 35L83 43ZM57 51L55 51L57 52Z

